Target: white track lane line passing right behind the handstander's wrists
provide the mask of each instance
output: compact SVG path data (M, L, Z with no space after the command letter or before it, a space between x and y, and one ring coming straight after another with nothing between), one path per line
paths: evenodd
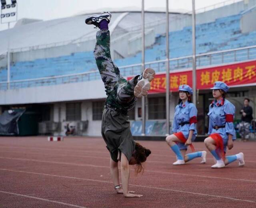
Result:
M45 174L45 173L35 173L35 172L27 172L27 171L16 171L16 170L11 170L11 169L0 169L0 170L2 170L2 171L20 172L20 173L30 173L30 174L36 174L36 175L53 176L53 177L62 177L62 178L68 178L68 179L78 179L78 180L85 180L85 181L112 183L110 181L101 181L101 180L94 180L94 179L84 179L84 178L76 178L76 177L68 177L68 176L60 176L60 175L50 175L50 174ZM211 197L225 198L225 199L230 199L230 200L235 200L235 201L243 201L243 202L256 203L256 202L251 201L251 200L231 198L231 197L227 197L227 196L218 196L218 195L212 195L212 194L201 194L201 193L197 193L197 192L182 191L182 190L176 190L176 189L170 189L170 188L158 188L158 187L154 187L154 186L143 186L143 185L135 185L135 184L129 184L129 185L130 186L142 187L142 188L153 188L153 189L158 189L158 190L168 190L168 191L180 192L180 193L186 193L186 194L194 194L194 195L200 195L200 196L211 196Z

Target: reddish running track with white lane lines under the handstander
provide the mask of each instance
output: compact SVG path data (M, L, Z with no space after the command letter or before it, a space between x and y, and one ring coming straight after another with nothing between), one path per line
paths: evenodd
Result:
M143 197L124 198L114 191L102 138L0 137L0 207L256 207L255 142L234 142L228 154L244 152L246 165L224 169L210 168L209 152L206 164L173 166L164 141L140 143L152 155L143 175L131 167L129 189Z

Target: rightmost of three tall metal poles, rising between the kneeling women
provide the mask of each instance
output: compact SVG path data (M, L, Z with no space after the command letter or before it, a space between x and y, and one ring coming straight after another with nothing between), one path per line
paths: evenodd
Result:
M193 49L193 103L196 106L196 14L195 0L192 0L192 49Z

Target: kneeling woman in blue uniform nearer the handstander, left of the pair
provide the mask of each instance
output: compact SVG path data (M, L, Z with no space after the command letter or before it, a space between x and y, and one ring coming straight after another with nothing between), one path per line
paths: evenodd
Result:
M186 162L201 157L201 163L206 162L206 151L194 152L192 141L196 139L196 106L191 102L192 88L186 84L179 86L180 100L175 108L173 134L166 137L167 144L177 156L173 165L183 165ZM185 155L187 146L190 145L194 153Z

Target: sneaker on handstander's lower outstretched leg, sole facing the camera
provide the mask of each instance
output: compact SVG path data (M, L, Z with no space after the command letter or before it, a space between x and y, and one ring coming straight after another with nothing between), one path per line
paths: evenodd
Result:
M137 98L141 98L142 96L146 96L148 94L148 90L150 90L150 81L154 79L156 73L154 69L146 68L142 75L138 78L138 83L134 88L134 96Z

